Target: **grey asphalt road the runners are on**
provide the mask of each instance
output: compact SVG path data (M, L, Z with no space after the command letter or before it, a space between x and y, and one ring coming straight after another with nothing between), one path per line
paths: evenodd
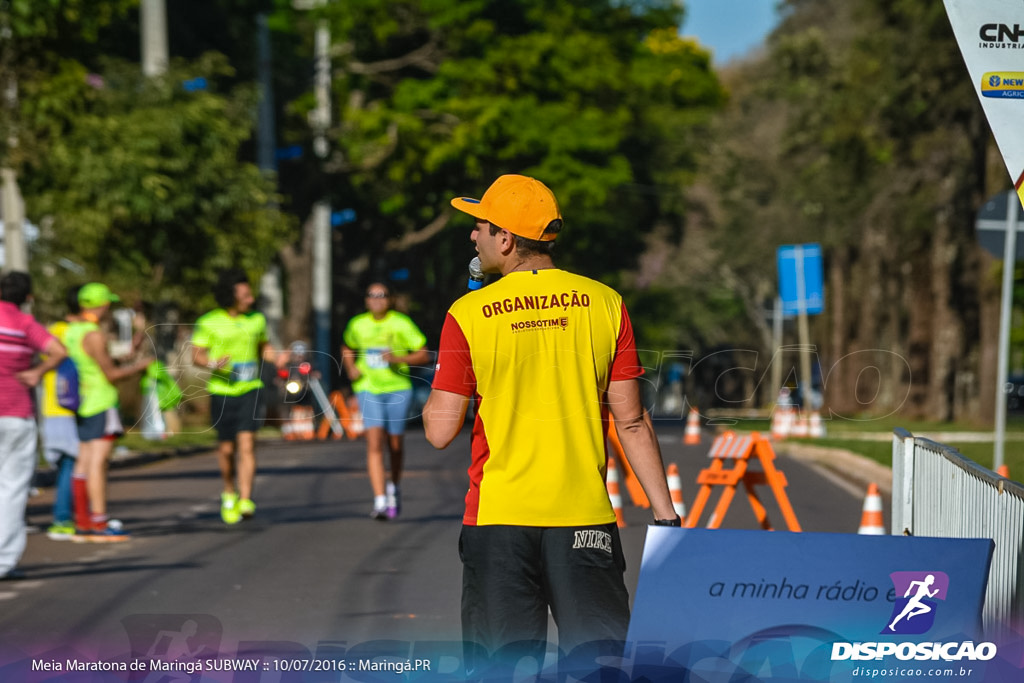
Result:
M711 437L684 446L680 426L658 431L689 506ZM259 650L309 658L384 647L384 639L456 647L468 431L444 452L417 429L407 439L403 511L390 522L369 518L361 440L261 442L256 517L232 527L219 518L212 454L112 470L110 512L132 540L30 536L22 561L29 579L0 584L0 680L22 680L31 659L63 661L69 653L127 660ZM862 494L802 462L780 457L777 465L803 530L856 532ZM761 493L784 528L767 489ZM30 501L30 524L49 523L51 495L44 489ZM716 493L710 506L717 500ZM629 504L625 513L632 594L649 513ZM757 528L741 492L722 525Z

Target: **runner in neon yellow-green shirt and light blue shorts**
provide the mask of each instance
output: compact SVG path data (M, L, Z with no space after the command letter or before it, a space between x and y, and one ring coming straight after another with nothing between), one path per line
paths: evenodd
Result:
M386 285L367 289L367 312L353 317L345 329L341 358L359 398L367 430L367 473L374 489L374 519L394 519L401 510L403 438L413 382L409 366L430 359L427 338L408 315L391 309ZM384 441L391 455L390 478L384 472ZM386 486L385 486L385 480Z

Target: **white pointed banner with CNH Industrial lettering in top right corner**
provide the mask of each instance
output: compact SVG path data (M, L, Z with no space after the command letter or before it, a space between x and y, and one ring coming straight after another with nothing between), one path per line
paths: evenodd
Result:
M944 0L988 125L1024 204L1024 0Z

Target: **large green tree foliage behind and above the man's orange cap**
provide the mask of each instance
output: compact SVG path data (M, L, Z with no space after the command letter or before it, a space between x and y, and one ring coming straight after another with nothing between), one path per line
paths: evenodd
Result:
M692 181L701 131L723 101L708 53L678 37L680 11L677 2L353 0L309 12L343 43L334 142L354 198L339 201L357 203L360 216L345 232L346 258L393 267L420 264L426 249L464 254L432 272L414 268L414 285L440 287L439 319L472 255L470 221L457 216L415 249L394 241L453 197L525 173L561 204L559 262L615 282L655 223L681 223L679 185Z

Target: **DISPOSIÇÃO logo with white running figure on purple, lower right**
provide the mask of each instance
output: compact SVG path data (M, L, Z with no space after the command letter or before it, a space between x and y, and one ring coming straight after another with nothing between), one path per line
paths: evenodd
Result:
M921 636L932 630L935 617L949 592L949 577L943 571L894 571L896 600L886 621L883 636ZM987 661L996 654L994 643L974 641L869 641L833 643L831 659L867 660L895 656L919 661Z

